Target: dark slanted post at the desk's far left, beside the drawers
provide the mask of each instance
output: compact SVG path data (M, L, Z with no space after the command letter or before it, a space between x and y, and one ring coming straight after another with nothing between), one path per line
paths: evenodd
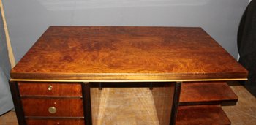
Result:
M10 81L9 84L10 84L10 90L12 92L12 100L15 106L15 112L18 119L18 124L25 125L26 120L24 117L23 106L20 99L20 91L18 89L18 83Z

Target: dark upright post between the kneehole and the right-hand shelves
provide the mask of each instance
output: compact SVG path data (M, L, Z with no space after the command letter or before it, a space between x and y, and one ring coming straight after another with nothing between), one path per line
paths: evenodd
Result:
M173 106L170 113L170 125L176 124L176 117L178 112L178 102L179 102L179 96L181 94L181 82L177 82L175 84L175 90L173 94Z

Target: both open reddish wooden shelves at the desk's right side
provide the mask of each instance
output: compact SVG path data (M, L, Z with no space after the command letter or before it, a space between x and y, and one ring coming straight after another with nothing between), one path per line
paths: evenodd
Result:
M236 105L237 101L226 82L184 82L176 125L230 124L221 105Z

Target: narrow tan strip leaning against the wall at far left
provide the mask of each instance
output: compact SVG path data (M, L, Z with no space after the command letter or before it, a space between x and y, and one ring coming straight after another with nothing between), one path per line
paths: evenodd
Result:
M4 23L4 32L5 32L5 37L6 37L6 41L7 41L8 56L9 56L11 67L13 68L15 66L15 58L14 58L13 51L12 51L12 45L11 45L11 41L10 41L9 31L7 29L7 22L5 20L4 6L3 6L1 0L0 0L0 8L1 8L1 16L3 18L3 23Z

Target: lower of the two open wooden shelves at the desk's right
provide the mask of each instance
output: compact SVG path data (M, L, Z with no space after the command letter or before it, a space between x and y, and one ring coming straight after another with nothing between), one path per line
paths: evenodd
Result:
M220 105L179 106L176 125L230 124Z

